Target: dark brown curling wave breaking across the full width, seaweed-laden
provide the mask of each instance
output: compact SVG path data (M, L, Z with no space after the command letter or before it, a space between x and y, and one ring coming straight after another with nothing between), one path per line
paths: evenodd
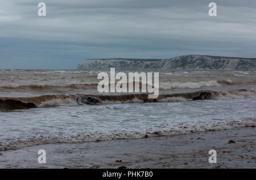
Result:
M129 102L177 102L185 100L210 100L217 98L256 97L255 89L236 89L231 91L196 91L188 93L173 93L159 95L158 98L148 98L148 94L129 95L44 95L37 97L2 97L0 110L28 109L56 105L96 105L102 103Z

